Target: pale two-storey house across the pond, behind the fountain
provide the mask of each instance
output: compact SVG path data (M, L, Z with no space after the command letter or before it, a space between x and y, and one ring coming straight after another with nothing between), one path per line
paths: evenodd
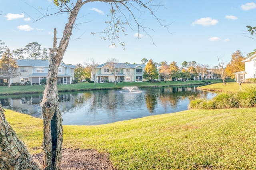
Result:
M143 78L145 65L143 64L115 63L115 67L116 73L114 74L117 82L145 81ZM111 73L108 63L104 63L96 67L95 77L92 76L91 78L92 81L95 79L97 83L106 81L112 83L115 81L114 74Z

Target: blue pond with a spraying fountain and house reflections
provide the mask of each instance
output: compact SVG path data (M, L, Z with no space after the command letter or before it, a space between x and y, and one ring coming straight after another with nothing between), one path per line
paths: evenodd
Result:
M198 86L152 87L93 90L59 93L63 125L102 125L150 115L174 113L188 109L197 97L212 98L215 93L200 91ZM42 95L0 96L6 108L33 117L41 117Z

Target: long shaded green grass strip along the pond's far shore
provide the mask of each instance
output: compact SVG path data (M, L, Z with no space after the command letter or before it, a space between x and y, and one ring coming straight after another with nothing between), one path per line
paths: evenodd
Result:
M221 80L211 80L212 83L221 82ZM65 91L86 91L94 89L118 89L124 86L137 86L137 87L162 87L162 86L180 86L180 85L196 85L196 84L207 84L202 81L167 81L165 82L132 82L132 83L77 83L71 85L58 85L59 92ZM33 86L11 86L8 88L6 86L0 86L0 95L10 95L10 94L25 94L25 93L42 93L44 91L44 85L33 85Z

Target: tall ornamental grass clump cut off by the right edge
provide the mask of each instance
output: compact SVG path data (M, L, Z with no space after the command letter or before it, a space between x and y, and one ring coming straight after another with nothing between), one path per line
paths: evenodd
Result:
M244 88L244 91L237 93L239 107L256 107L256 86Z

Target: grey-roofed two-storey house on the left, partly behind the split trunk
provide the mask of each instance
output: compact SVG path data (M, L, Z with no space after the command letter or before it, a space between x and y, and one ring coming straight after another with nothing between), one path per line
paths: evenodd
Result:
M18 59L16 60L20 76L12 78L10 83L25 83L30 81L31 85L40 85L42 79L47 77L49 61L34 59ZM66 65L60 63L58 68L58 84L71 84L74 80L75 65ZM2 79L4 82L4 79Z

